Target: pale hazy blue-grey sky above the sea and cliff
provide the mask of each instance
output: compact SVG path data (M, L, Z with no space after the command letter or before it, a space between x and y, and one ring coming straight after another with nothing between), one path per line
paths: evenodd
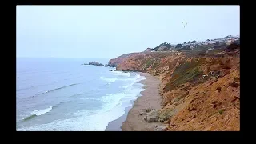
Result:
M116 58L162 42L238 35L240 7L17 6L16 26L17 57Z

